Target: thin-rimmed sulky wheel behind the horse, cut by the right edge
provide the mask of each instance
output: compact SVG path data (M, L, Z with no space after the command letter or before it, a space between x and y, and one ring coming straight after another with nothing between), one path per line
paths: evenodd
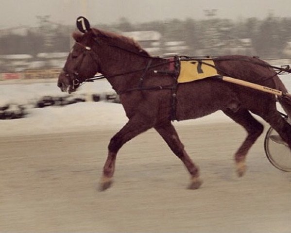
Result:
M265 153L273 166L282 171L291 171L291 150L272 127L265 136Z

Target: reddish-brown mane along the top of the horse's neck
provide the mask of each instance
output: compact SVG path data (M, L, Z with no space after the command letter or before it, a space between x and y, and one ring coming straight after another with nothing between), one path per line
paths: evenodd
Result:
M141 46L137 43L137 41L134 40L133 38L129 38L124 35L120 35L120 34L116 34L112 32L105 32L103 30L95 29L95 28L93 29L93 31L97 35L101 37L105 37L106 40L111 41L112 43L114 43L114 45L120 46L122 48L126 47L126 49L130 49L130 47L133 47L142 55L150 56L150 54L146 50L142 49Z

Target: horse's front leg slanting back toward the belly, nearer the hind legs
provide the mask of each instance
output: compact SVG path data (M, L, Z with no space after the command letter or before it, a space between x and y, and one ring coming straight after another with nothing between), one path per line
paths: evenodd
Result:
M179 136L172 126L170 121L157 124L154 129L162 136L171 150L182 160L188 172L191 175L191 183L188 186L189 189L197 189L202 184L199 178L198 167L192 162L187 152L184 150L184 145L179 139Z

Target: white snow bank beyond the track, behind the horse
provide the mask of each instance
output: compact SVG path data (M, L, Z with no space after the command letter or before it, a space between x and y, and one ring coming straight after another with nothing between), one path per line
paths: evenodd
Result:
M291 90L291 75L280 76L285 85ZM86 83L74 93L101 94L113 93L111 85L106 81ZM51 83L30 84L1 84L0 104L18 103L30 104L43 96L61 97L62 93L56 86L56 81ZM0 134L25 135L44 133L64 133L76 131L96 131L106 129L119 130L126 122L124 110L121 104L109 102L80 102L63 107L50 106L45 108L30 108L25 118L13 120L0 120ZM221 111L195 120L174 122L179 124L211 124L220 122L232 122Z

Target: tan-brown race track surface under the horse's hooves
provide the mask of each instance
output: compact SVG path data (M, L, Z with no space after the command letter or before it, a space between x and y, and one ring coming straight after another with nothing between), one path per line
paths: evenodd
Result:
M236 124L179 125L204 184L154 131L119 153L115 183L98 191L116 131L0 137L0 232L290 233L291 173L274 168L263 137L236 177Z

